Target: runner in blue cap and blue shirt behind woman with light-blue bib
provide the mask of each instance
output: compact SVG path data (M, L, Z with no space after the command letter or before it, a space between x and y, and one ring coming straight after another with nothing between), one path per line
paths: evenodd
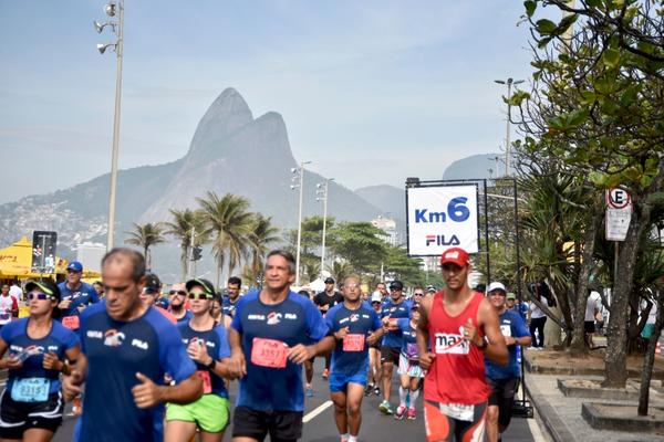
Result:
M66 281L58 285L61 299L60 308L62 325L72 330L79 329L79 316L90 304L97 303L98 296L94 287L83 281L83 265L72 261L66 266Z

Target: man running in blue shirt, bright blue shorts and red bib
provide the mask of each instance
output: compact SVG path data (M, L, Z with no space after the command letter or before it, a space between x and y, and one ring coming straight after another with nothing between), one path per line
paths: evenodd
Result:
M346 277L343 303L328 311L325 323L336 339L330 370L330 397L342 442L356 442L369 370L369 346L383 336L377 313L361 299L360 278Z

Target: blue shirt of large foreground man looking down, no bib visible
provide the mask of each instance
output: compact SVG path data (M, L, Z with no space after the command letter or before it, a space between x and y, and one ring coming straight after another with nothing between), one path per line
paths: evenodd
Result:
M138 409L132 388L139 383L136 372L157 385L164 385L165 373L176 382L194 375L175 325L154 307L134 320L115 320L101 303L81 314L80 335L87 373L74 440L162 442L164 407Z

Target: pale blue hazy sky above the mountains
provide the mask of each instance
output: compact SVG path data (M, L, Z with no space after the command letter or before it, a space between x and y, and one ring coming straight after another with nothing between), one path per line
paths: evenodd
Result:
M278 112L298 161L351 189L439 179L504 149L505 86L531 76L521 1L126 0L120 167L183 157L235 87ZM0 0L0 202L110 171L104 1ZM512 135L513 137L513 135Z

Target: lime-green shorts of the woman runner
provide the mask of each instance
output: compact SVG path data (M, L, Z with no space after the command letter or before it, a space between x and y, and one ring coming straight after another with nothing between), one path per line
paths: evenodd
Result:
M203 394L196 402L180 406L166 404L166 421L196 422L207 433L219 433L228 425L228 399L218 394Z

